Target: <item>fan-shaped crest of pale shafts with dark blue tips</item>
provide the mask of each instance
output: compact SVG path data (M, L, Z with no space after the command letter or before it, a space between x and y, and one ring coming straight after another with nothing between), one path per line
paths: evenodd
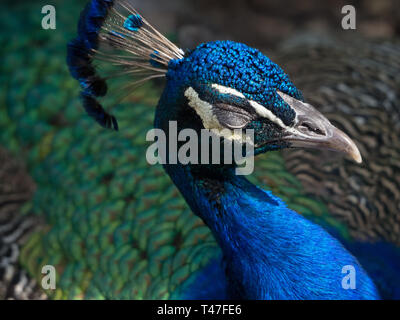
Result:
M183 56L184 52L153 28L129 0L92 0L81 13L77 37L68 44L67 64L81 85L87 113L101 126L117 130L115 117L96 100L107 94L106 81L127 76L127 86L122 89L131 93L148 80L165 77L169 62ZM102 76L94 61L105 65ZM110 67L114 70L107 73Z

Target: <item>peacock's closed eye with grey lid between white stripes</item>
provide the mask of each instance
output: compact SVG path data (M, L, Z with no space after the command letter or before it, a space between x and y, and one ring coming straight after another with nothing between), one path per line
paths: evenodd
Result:
M253 119L245 110L225 103L215 104L213 113L220 125L228 129L242 129Z

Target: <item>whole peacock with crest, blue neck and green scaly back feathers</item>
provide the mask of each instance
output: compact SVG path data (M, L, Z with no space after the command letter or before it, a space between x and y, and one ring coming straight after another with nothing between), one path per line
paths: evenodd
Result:
M376 64L359 52L364 59L340 63L340 49L332 50L329 43L325 47L309 45L310 54L288 44L280 59L289 66L292 61L294 74L302 74L296 69L304 68L306 76L296 81L304 83L310 100L325 108L343 131L306 103L283 70L260 51L217 41L184 52L129 1L92 0L81 14L78 37L68 45L67 61L81 84L81 100L89 116L119 132L103 131L88 119L79 119L78 111L64 117L36 115L43 125L30 138L27 132L32 132L32 126L27 120L8 131L8 137L27 137L23 143L32 149L28 166L40 181L23 212L41 212L46 220L23 246L21 264L37 279L43 264L57 267L58 288L48 292L54 298L399 297L399 181L395 175L399 155L398 149L388 145L396 144L399 129L396 87L389 84L398 84L399 78L389 68L391 61L384 59L390 53L395 63L398 51L396 45L371 46ZM331 59L326 74L310 60L316 53L327 56L324 61ZM98 74L94 61L104 64L105 77ZM107 70L111 64L119 70ZM373 103L364 90L374 91L359 86L367 80L360 72L364 69L367 79L374 79L368 83L380 90L383 108L376 104L368 108ZM321 79L310 81L310 70ZM348 74L356 82L357 95L351 96ZM143 133L151 128L154 111L150 106L157 104L160 92L148 88L146 95L156 91L150 101L116 106L118 123L97 99L111 91L107 83L114 76L135 79L123 87L125 92L144 81L166 78L154 120L154 126L164 132L170 121L176 121L179 129L196 131L215 125L253 129L259 158L255 177L250 182L236 175L235 165L165 164L168 180L161 168L149 168ZM140 98L139 90L135 92ZM347 97L350 102L338 110L332 97L340 97L337 101L342 103ZM366 106L354 111L357 101ZM5 114L15 119L18 110ZM25 119L29 116L24 115ZM377 121L385 123L388 136L373 131L371 137L373 128L368 124ZM75 126L71 128L70 123ZM366 131L357 130L365 127ZM279 151L328 148L361 162L356 144L344 131L362 142L358 144L367 170L328 151ZM41 139L34 144L36 135ZM234 137L242 141L234 135L222 138ZM365 149L374 148L374 138L383 162L372 162ZM382 163L388 155L392 162L385 170ZM377 179L385 192L393 194L393 202L370 197L374 193L361 180L368 181L370 172L381 175ZM332 176L339 185L329 182ZM267 185L270 191L255 184ZM332 194L338 198L330 198ZM367 220L367 226L358 230L362 223L357 220L365 212L370 220L371 212L377 212L372 221L383 223L369 225ZM342 286L344 266L355 268L355 289Z

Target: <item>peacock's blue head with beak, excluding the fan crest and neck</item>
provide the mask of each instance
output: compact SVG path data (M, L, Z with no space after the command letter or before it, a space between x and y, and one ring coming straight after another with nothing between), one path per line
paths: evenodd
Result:
M172 60L156 125L208 129L223 139L254 132L254 152L331 149L361 162L354 142L304 101L284 71L259 50L232 41L205 43ZM236 130L236 131L235 131Z

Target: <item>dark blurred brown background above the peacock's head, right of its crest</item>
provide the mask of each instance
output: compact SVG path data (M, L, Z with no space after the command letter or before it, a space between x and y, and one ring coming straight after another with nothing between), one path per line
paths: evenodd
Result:
M176 31L183 47L231 39L273 48L297 33L343 33L342 7L357 10L359 37L388 39L400 34L398 0L136 0L136 7L163 32Z

